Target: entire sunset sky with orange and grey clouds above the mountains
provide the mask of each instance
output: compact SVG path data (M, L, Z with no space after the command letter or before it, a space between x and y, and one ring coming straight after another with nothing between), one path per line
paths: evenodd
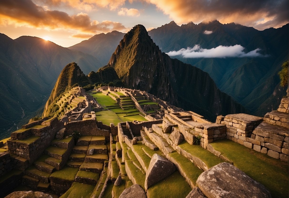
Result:
M95 34L147 30L174 20L219 20L264 30L289 21L288 0L0 0L0 33L36 36L69 47Z

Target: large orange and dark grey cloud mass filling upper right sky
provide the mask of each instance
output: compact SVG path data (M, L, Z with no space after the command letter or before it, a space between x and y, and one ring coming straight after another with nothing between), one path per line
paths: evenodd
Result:
M289 22L288 0L144 0L155 4L176 23L200 23L219 20L239 23L257 29L280 27Z

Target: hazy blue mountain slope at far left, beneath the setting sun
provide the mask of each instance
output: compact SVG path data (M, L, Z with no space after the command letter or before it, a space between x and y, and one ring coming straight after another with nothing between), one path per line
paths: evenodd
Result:
M92 55L71 51L37 37L15 40L0 34L0 136L6 137L43 108L67 63L78 62L84 73L98 70ZM0 137L0 139L1 139Z

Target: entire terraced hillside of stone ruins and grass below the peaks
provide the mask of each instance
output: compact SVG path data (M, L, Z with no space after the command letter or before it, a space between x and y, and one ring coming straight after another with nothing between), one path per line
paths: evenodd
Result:
M0 145L1 196L18 190L61 198L288 195L288 98L264 118L232 114L212 123L144 91L69 93L86 105L75 104L60 121L24 125Z

